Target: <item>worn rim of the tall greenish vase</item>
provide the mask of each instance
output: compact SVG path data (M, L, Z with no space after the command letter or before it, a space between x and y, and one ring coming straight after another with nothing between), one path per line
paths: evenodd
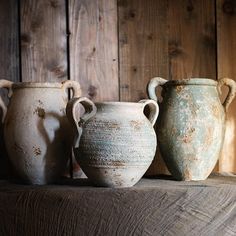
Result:
M165 83L165 86L168 85L208 85L208 86L216 86L217 81L208 78L187 78L187 79L180 79L180 80L168 80Z

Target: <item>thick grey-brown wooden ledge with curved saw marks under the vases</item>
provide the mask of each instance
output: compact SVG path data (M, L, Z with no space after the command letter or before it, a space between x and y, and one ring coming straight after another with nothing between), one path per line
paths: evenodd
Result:
M0 181L0 235L236 235L235 181L142 179L120 189Z

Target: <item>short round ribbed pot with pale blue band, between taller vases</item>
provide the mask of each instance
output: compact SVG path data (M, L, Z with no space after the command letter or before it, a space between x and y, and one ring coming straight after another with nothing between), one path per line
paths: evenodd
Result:
M80 103L83 104L80 99L71 100L67 116L78 129L75 154L82 170L97 186L133 186L155 155L153 125L159 112L157 103L152 100L96 103L97 112L94 105L86 108L83 104L85 110L90 107L94 112L81 119L75 115ZM149 118L143 113L146 106L150 108Z

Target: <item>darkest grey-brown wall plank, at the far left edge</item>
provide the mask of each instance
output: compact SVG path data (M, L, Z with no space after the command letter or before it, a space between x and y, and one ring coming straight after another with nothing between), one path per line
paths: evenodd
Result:
M18 82L19 77L19 36L18 1L0 1L0 79ZM7 93L1 89L0 96L7 101ZM2 116L2 115L1 115ZM0 125L0 177L6 176L6 150L3 127Z

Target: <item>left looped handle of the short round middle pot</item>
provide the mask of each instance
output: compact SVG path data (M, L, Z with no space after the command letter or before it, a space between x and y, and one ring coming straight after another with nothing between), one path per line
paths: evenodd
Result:
M83 106L83 109L81 109L81 106ZM81 114L81 110L84 110L83 114ZM66 115L76 132L74 136L75 148L79 147L83 123L91 119L96 114L96 112L97 108L95 104L86 97L75 97L67 103Z

